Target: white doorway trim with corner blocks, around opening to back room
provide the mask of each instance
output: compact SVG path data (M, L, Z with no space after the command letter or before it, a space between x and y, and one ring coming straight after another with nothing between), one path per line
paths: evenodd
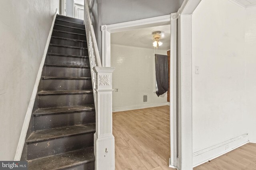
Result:
M170 15L159 16L154 18L147 18L142 20L135 20L135 21L128 21L123 23L116 23L111 25L102 25L102 66L110 67L110 44L111 44L111 33L116 33L120 31L129 31L132 29L140 29L146 27L154 27L160 25L171 25L171 64L170 64L170 161L169 167L177 168L177 133L178 129L176 129L176 78L174 78L176 74L176 20L177 20L177 13L173 13ZM174 63L175 61L175 63ZM179 144L180 145L180 144Z

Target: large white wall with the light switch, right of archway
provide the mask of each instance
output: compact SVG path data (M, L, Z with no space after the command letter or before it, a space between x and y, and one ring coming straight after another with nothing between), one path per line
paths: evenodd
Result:
M228 0L202 0L192 15L193 152L248 133L244 20Z

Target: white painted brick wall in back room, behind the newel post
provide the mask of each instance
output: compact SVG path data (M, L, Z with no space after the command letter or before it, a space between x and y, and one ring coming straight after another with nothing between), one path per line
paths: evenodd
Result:
M158 50L158 54L167 55ZM113 111L123 111L154 106L163 106L167 94L154 93L154 48L152 49L111 44L111 66L113 72ZM143 95L148 102L143 102Z

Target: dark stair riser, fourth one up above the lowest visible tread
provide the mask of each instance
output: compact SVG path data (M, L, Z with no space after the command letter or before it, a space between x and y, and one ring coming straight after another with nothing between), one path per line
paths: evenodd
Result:
M42 90L88 90L92 80L42 80Z

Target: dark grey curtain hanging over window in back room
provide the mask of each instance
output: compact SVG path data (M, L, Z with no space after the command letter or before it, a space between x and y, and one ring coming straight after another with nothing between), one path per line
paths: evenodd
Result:
M156 63L156 84L158 91L156 95L159 97L168 90L168 59L167 55L155 54Z

